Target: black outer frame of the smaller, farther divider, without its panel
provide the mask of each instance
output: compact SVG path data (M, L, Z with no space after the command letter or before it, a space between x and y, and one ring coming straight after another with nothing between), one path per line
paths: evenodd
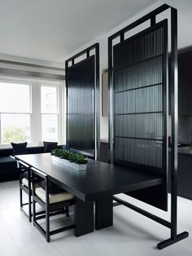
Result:
M94 56L95 56L95 64L94 64L94 74L95 74L95 86L94 86L94 154L89 154L87 152L81 152L76 150L76 148L73 148L76 150L76 152L80 152L85 154L88 157L93 157L95 160L99 160L100 158L100 95L99 95L99 44L95 43L92 46L89 46L84 51L79 52L76 55L73 55L71 58L65 61L65 84L66 84L66 97L67 97L67 109L66 109L66 144L68 148L68 68L72 67L75 64L78 64L80 62L75 63L75 60L83 55L85 56L85 59L88 59L91 55L90 52L94 50ZM71 64L69 66L69 64ZM96 132L95 132L96 129ZM96 137L96 138L95 138ZM68 148L69 149L69 148Z

